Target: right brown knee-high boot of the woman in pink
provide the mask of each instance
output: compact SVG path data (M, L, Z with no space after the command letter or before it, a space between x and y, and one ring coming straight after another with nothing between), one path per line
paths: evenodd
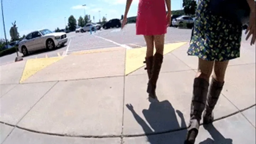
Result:
M147 91L149 93L149 96L152 98L156 98L156 94L155 94L156 82L159 77L163 58L164 58L163 55L160 53L156 52L154 55L153 68L152 68L152 73L149 79L148 91Z

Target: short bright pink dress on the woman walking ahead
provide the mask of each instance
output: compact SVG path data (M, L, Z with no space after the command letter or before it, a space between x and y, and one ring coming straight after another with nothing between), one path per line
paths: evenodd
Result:
M167 32L165 0L139 0L137 35L161 35Z

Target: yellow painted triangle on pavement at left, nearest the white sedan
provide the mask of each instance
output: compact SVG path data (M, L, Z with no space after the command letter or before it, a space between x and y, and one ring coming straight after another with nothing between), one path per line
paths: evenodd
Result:
M59 61L62 58L63 57L28 59L23 70L20 83L28 79L30 76L36 74L43 68L46 68L47 66Z

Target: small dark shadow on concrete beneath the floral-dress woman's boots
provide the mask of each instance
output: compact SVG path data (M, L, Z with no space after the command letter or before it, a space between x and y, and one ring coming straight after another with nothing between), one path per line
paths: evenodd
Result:
M224 136L213 126L213 124L203 125L213 139L207 138L199 144L233 144L232 139L226 139Z

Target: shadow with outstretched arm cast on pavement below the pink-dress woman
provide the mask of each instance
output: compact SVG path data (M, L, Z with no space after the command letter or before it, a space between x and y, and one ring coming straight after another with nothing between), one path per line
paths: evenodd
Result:
M186 128L186 122L183 117L183 113L176 110L176 113L181 118L181 126L178 123L178 119L175 114L175 110L171 103L167 100L159 102L153 98L149 98L151 102L148 110L143 110L144 117L150 126L134 111L131 104L126 104L127 108L132 112L136 121L143 128L145 134L147 135L148 142L150 144L165 144L165 143L175 143L183 144L186 138L187 130L180 130L178 132L173 132L172 134L161 134L152 135L153 133L163 133L170 128L179 129ZM151 129L151 128L153 129Z

